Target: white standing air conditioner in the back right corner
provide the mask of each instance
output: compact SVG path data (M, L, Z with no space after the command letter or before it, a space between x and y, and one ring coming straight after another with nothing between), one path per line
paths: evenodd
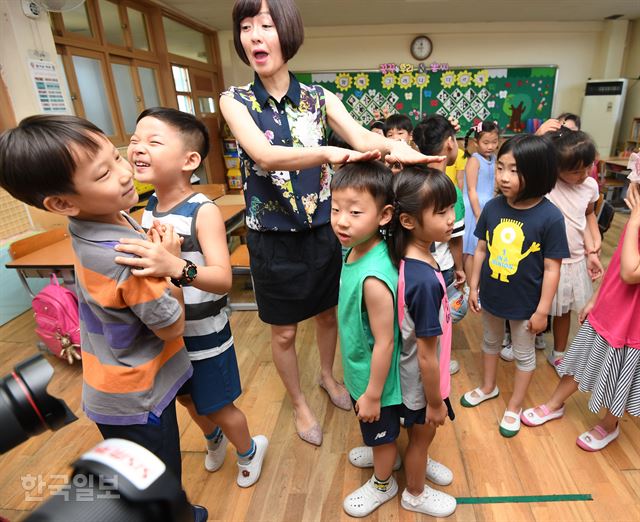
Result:
M615 151L627 94L627 80L589 80L582 100L582 130L596 142L601 158Z

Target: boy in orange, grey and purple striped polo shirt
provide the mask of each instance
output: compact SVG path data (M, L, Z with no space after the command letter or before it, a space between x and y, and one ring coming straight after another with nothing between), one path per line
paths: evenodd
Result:
M181 337L182 292L114 261L120 238L146 237L124 212L138 202L131 166L92 123L31 116L0 136L0 185L69 218L87 417L104 438L140 444L181 480L175 397L193 372ZM193 515L206 520L207 510L193 506Z

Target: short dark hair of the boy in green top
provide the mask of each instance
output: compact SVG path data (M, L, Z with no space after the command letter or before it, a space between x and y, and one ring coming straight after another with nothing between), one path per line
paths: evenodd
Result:
M393 202L393 174L381 161L345 163L331 180L331 192L353 189L368 192L378 205L378 209Z

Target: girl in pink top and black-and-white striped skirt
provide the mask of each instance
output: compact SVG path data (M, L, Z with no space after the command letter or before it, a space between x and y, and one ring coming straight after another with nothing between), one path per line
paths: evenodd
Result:
M635 181L635 179L633 180ZM586 451L599 451L620 435L625 411L640 416L640 190L632 183L625 202L631 209L626 229L602 285L579 314L580 330L560 366L562 377L551 398L525 410L527 426L541 426L564 415L576 390L591 392L589 409L603 418L576 440Z

